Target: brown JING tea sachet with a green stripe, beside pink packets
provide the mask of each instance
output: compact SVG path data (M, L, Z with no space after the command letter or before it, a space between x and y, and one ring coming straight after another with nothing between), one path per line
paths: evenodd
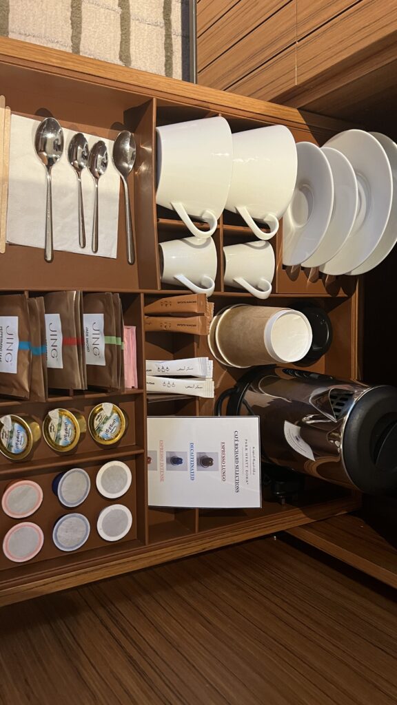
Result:
M117 389L117 348L122 341L116 336L112 293L83 296L83 329L88 386Z

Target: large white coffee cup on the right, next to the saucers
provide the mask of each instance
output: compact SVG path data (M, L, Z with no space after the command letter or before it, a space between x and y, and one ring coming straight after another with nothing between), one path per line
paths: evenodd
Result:
M297 149L284 125L233 135L233 173L225 208L239 213L259 240L270 240L288 208L297 178ZM255 220L266 223L265 233Z

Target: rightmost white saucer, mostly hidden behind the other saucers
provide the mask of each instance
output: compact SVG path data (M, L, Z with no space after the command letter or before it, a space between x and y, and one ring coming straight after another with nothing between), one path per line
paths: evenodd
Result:
M365 259L365 262L362 262L360 266L350 271L349 274L365 274L366 271L374 269L375 266L383 262L397 243L397 145L390 137L386 137L386 135L382 135L381 133L369 134L373 135L378 142L380 142L389 159L391 173L393 174L393 201L391 203L391 212L389 221L387 221L386 230L381 236L374 252L372 252L372 255L369 255L368 259Z

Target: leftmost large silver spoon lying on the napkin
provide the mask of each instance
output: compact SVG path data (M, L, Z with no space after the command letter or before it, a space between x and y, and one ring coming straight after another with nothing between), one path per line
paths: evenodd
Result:
M47 169L47 205L45 210L45 261L54 259L54 235L52 231L51 170L64 152L64 133L55 118L45 118L36 130L35 149L37 157Z

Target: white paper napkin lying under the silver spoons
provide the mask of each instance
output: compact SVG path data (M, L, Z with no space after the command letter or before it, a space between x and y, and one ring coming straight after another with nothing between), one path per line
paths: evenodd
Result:
M11 116L10 175L8 185L7 242L45 247L47 171L35 151L35 134L40 120ZM91 240L95 185L88 168L83 170L83 207L87 245L78 245L78 180L67 154L76 133L64 130L64 153L52 168L52 219L54 250L93 255ZM85 134L89 147L97 140ZM112 140L103 140L109 151L107 171L99 180L99 248L97 256L117 256L120 176L112 162ZM94 255L95 256L95 255ZM44 257L44 255L43 255Z

